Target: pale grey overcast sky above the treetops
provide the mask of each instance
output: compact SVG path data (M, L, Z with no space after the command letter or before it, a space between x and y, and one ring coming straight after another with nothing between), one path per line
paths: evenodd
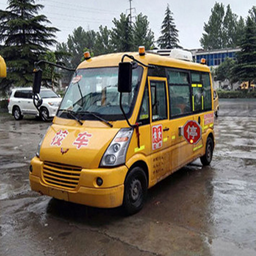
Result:
M204 23L208 21L211 8L215 0L133 0L132 6L136 9L133 15L142 12L147 15L150 28L155 34L155 39L160 35L161 24L167 3L174 13L174 19L179 30L180 45L187 49L200 48L200 38L203 33ZM223 0L225 7L230 4L231 9L237 15L244 18L248 10L256 5L255 0ZM114 17L119 19L121 12L129 13L129 0L39 0L38 3L45 5L40 12L45 14L53 26L61 31L57 33L59 42L67 41L67 37L78 26L84 29L98 30L100 25L113 26ZM0 9L7 7L6 0L0 0Z

